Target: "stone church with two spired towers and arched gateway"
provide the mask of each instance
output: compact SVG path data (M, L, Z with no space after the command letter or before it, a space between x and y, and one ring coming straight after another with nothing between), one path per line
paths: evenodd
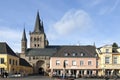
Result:
M49 42L44 32L43 22L37 12L33 32L30 32L30 48L27 48L25 29L21 40L21 58L24 58L33 66L33 72L47 74L50 67L50 57L56 52L56 48L48 46Z

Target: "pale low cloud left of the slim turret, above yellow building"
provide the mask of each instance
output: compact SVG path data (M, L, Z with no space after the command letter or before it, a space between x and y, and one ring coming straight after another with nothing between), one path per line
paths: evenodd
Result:
M6 42L15 51L20 52L21 32L2 26L0 29L0 42Z

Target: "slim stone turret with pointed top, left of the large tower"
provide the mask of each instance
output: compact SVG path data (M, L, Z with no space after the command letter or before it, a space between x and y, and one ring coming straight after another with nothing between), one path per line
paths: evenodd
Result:
M26 38L26 33L25 33L25 28L24 28L22 40L21 40L21 52L25 53L26 49L27 49L27 38Z

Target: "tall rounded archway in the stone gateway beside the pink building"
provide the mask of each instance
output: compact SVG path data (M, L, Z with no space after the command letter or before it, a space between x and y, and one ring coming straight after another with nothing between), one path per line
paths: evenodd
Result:
M38 74L44 75L44 65L45 62L43 60L39 60L36 62L36 70Z

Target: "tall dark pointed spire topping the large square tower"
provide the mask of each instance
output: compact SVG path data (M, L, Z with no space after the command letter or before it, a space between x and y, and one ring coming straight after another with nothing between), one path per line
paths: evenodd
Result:
M37 12L36 22L33 33L44 33L43 23L41 23L39 12Z

